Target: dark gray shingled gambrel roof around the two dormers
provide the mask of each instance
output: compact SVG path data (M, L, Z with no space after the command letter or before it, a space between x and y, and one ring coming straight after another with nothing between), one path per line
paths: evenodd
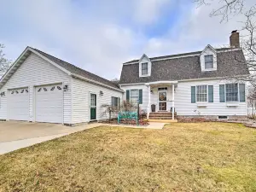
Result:
M212 79L249 74L241 49L216 49L217 70L201 72L201 51L150 58L151 76L139 77L138 60L124 63L119 84L137 84L154 81Z

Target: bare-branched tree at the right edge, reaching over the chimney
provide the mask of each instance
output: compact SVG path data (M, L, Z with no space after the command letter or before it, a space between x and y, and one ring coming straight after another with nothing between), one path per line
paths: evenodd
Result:
M218 1L219 7L212 9L209 15L220 16L220 22L228 22L234 19L233 16L244 15L244 20L237 21L242 23L242 27L238 31L242 32L240 48L243 50L245 59L238 58L236 55L231 55L231 57L235 57L236 61L247 65L251 74L229 78L250 82L256 88L256 3L251 7L246 7L247 0L194 0L198 6L210 6L214 1ZM230 54L234 53L230 52Z

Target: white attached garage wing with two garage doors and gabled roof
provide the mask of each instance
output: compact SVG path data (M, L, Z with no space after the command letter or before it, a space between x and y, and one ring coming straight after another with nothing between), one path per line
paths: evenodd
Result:
M0 119L73 125L108 119L123 96L107 79L27 47L0 81Z

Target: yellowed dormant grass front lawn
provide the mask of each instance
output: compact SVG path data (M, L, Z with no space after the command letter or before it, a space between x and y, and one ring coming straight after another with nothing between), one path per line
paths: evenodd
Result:
M0 155L0 191L256 191L256 130L101 126Z

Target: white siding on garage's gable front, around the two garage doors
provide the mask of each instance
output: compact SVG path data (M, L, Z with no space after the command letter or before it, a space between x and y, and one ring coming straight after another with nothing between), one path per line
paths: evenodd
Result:
M38 55L31 54L27 57L13 76L3 85L2 91L6 96L1 97L0 119L8 119L8 91L19 87L29 87L29 120L34 120L34 86L40 84L71 84L71 77L53 66ZM64 123L71 123L71 91L64 92Z

